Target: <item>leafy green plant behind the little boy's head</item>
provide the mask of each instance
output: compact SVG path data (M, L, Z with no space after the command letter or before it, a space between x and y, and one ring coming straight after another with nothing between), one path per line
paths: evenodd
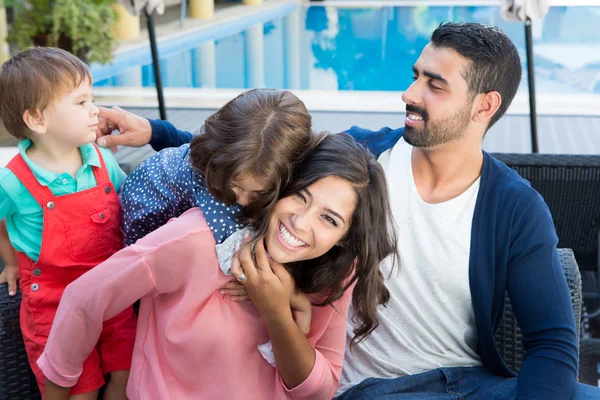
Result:
M21 49L61 47L87 62L112 60L116 0L6 0L15 9L8 40Z

